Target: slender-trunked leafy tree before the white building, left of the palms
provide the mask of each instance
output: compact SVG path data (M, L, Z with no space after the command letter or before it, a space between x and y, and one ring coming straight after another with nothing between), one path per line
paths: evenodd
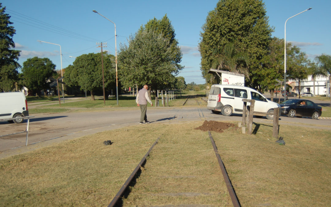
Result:
M298 81L299 83L299 98L301 98L301 81L308 78L308 66L310 61L306 57L306 53L300 52L300 48L292 46L287 53L287 70L286 74L289 79Z

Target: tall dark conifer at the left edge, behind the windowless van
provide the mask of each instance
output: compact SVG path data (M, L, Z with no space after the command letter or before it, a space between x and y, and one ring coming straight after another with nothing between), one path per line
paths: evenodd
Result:
M20 50L13 50L15 47L13 36L16 32L10 22L10 16L5 14L6 7L0 3L0 91L11 91L15 82L18 81L18 64Z

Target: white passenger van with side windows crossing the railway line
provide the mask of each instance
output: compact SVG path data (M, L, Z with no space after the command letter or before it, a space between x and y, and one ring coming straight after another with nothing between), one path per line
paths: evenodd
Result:
M266 116L267 119L273 119L273 115L262 115L260 113L273 113L274 108L280 105L269 101L261 93L253 88L236 85L212 85L208 96L207 109L212 110L214 114L222 113L224 116L230 116L232 113L242 114L242 99L254 99L254 115ZM247 103L250 105L251 103ZM280 115L280 114L279 114Z

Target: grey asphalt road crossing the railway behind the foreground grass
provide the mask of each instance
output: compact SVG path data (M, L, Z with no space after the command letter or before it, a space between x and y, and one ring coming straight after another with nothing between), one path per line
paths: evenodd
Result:
M230 117L217 115L205 106L197 107L148 107L150 124L176 123L185 121L241 121L242 115ZM30 119L28 146L25 146L26 133L0 137L0 159L35 150L37 148L78 138L97 132L138 125L140 110L138 107L125 109L97 109L90 112L37 114ZM254 118L254 122L272 125L272 120ZM304 126L331 130L331 119L314 120L311 118L288 118L281 116L279 124ZM0 135L24 131L26 121L22 124L0 122ZM15 149L14 149L15 148Z

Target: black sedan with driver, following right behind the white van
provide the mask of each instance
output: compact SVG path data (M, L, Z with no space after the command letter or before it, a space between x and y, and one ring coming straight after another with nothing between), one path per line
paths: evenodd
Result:
M317 119L322 115L322 107L305 99L288 99L280 104L281 114L288 117L311 117Z

